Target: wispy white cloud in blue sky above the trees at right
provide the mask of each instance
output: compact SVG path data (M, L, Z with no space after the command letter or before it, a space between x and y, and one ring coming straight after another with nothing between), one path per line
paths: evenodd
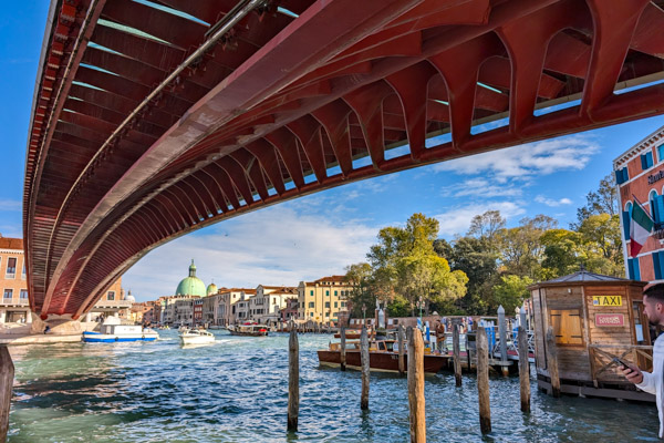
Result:
M562 169L583 169L600 145L588 135L572 135L443 162L436 172L490 174L498 182L530 178Z

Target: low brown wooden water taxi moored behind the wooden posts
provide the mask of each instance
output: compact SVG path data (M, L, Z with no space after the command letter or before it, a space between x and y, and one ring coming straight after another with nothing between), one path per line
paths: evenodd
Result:
M404 344L405 346L405 344ZM319 363L328 367L341 365L341 343L330 343L329 349L318 350ZM450 356L425 353L424 372L435 374L447 365ZM360 341L346 341L346 368L362 369ZM408 368L408 354L404 353L404 370ZM373 340L369 346L369 369L380 372L398 372L397 340Z

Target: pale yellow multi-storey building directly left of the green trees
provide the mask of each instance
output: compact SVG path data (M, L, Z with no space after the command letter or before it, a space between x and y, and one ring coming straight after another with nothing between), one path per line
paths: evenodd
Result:
M314 281L301 281L298 286L298 317L300 321L333 324L340 312L347 312L347 296L353 287L344 276L323 277Z

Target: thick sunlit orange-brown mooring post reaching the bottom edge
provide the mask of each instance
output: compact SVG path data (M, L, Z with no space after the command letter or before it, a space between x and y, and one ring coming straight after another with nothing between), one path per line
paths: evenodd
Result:
M411 443L426 442L424 400L424 339L419 329L407 329L408 339L408 406L411 410Z

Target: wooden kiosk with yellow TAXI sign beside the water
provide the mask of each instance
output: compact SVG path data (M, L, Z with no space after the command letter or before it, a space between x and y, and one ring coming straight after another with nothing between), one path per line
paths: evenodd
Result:
M584 270L530 286L538 387L552 393L558 364L560 392L654 401L636 390L613 357L652 370L652 340L643 315L644 281ZM547 331L553 337L547 344ZM554 344L552 344L554 342ZM548 347L554 346L551 352Z

